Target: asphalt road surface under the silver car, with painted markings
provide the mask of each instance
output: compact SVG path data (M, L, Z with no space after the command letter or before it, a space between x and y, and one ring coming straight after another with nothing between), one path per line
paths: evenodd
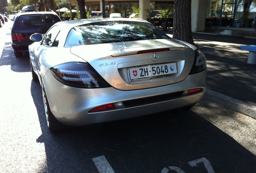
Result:
M0 28L1 173L255 173L256 120L206 98L188 112L50 133L40 84L31 78L28 56L15 58L6 26Z

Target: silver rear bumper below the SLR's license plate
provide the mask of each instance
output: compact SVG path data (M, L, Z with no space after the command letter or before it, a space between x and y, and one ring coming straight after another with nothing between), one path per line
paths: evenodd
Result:
M206 70L189 75L178 83L133 91L121 91L112 87L103 89L72 88L58 82L50 72L47 72L44 78L47 78L47 81L43 79L43 82L52 113L61 123L73 126L116 121L188 107L200 101L206 91ZM125 105L127 101L147 100L149 97L155 98L162 95L169 96L172 93L182 93L184 90L194 88L203 90L192 95L180 94L169 99L166 97L157 101L153 99L153 101L137 102L120 109L89 113L91 109L108 103L123 102Z

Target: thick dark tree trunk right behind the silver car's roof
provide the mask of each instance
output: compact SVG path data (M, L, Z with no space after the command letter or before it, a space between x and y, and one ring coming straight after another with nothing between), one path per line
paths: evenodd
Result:
M173 39L195 46L191 29L191 0L174 0Z

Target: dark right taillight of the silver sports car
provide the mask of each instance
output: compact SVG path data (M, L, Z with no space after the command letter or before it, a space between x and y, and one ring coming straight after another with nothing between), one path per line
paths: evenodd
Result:
M190 71L190 74L195 74L198 72L201 72L206 69L206 58L204 53L196 49L195 50L195 59L194 59L194 64L192 66L192 69Z

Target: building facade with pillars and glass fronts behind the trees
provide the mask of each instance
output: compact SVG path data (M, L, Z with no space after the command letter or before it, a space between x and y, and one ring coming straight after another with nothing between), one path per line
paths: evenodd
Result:
M69 4L76 5L78 9L76 0L69 0ZM102 4L105 4L106 17L111 13L121 13L128 18L133 13L132 6L135 6L141 8L139 18L146 20L147 9L171 7L173 10L174 0L85 0L89 12L102 12ZM255 31L256 28L256 0L192 0L191 13L193 32L205 30L208 23L230 30Z

